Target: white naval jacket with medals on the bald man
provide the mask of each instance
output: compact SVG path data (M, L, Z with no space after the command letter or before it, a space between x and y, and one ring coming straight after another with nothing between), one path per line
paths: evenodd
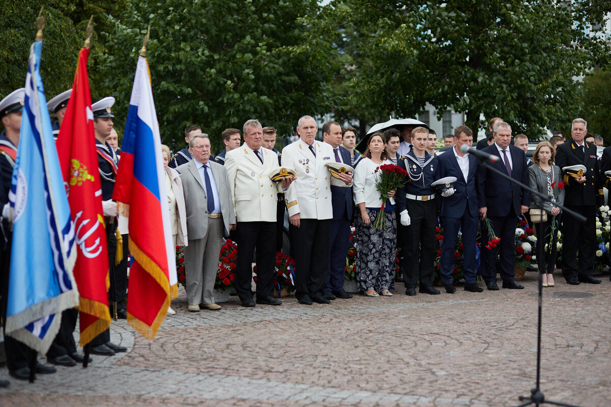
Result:
M324 164L335 162L335 156L327 143L315 141L313 146L316 157L301 139L282 149L282 167L295 168L297 178L284 193L284 200L289 216L331 219L331 172Z

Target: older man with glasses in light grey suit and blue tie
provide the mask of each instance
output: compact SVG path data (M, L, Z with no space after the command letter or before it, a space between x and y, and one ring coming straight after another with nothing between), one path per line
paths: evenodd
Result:
M218 270L222 237L235 229L235 212L227 173L210 160L207 134L191 138L193 160L176 168L183 182L189 245L185 247L186 292L189 311L219 310L212 289Z

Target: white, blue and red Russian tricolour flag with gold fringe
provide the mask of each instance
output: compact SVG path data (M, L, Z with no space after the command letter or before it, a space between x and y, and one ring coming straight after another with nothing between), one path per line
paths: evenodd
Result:
M127 320L152 339L178 294L159 124L145 57L138 57L113 198L129 205ZM163 199L162 199L163 198Z

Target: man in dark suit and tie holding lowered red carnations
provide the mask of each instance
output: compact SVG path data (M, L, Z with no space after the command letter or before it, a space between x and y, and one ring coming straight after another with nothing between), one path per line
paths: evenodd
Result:
M491 168L507 174L522 184L528 184L528 170L524 151L511 146L511 126L505 121L494 125L494 143L481 151L497 157L499 162L486 166L481 165L478 170L478 201L480 204L480 217L486 217L492 223L494 234L500 237L499 244L499 272L503 279L503 288L523 289L524 286L516 283L515 261L516 248L514 236L518 226L518 216L529 210L529 192L514 185L508 179L498 175ZM490 236L486 227L481 227L481 275L489 290L498 290L497 275L497 248L486 248Z

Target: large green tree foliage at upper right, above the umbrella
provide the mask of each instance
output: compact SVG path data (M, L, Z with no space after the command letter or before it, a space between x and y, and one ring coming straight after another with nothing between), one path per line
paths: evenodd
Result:
M414 115L428 102L464 112L472 128L483 127L483 114L538 135L581 110L574 77L605 52L604 40L588 35L579 2L346 3L354 24L376 28L361 45L372 69L359 72L354 92L384 113Z

